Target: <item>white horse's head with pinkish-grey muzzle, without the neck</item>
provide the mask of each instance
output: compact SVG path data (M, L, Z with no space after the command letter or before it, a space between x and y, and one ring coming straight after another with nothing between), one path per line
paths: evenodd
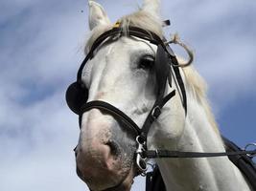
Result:
M162 37L159 18L159 1L146 0L142 10L124 16L117 25L123 31L128 31L129 26L138 27ZM89 26L92 35L86 45L87 53L91 53L93 43L102 33L116 27L110 23L103 7L94 1L89 1ZM107 36L81 66L78 78L86 91L80 99L87 102L101 100L113 105L142 128L159 94L157 78L162 74L155 70L157 49L157 45L138 36ZM166 70L169 71L169 66ZM176 88L175 84L170 87L166 81L161 83L164 83L162 95ZM172 122L170 115L175 117ZM147 135L149 148L166 146L166 139L175 139L181 134L184 110L179 96L168 102L159 119L162 122L152 124ZM170 131L166 123L175 128ZM129 190L133 178L140 174L134 160L136 137L136 132L128 128L122 117L113 116L99 107L82 113L76 148L77 172L81 180L92 190Z

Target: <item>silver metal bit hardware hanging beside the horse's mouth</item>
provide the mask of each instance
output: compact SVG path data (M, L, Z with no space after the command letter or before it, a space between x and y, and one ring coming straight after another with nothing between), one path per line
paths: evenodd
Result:
M146 141L143 138L141 138L140 136L138 136L136 138L136 142L137 142L136 164L137 164L140 174L142 176L146 176L146 172L148 170L148 167L147 167L148 159L146 157L142 156L143 152L145 151Z

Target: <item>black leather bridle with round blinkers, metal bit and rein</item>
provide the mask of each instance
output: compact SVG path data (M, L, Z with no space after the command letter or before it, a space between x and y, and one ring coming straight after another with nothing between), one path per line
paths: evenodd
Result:
M82 70L87 61L93 58L96 50L105 42L109 37L121 37L121 36L133 36L143 40L149 41L151 44L157 46L157 52L154 62L154 70L156 74L157 83L157 95L151 112L142 127L138 127L137 124L128 117L124 112L116 108L115 106L102 101L93 100L87 102L88 90L85 88L81 81ZM187 114L187 96L185 91L185 85L179 72L179 64L175 57L175 53L171 47L166 43L165 39L161 39L154 32L145 31L137 27L129 26L127 30L124 30L120 25L116 25L113 29L104 32L93 43L89 53L81 63L81 67L77 74L77 81L69 86L66 92L66 101L69 108L79 115L80 126L81 116L83 113L90 111L91 109L99 109L105 113L120 119L124 126L131 129L136 134L137 148L134 153L134 159L138 169L138 175L145 175L147 171L147 160L155 158L205 158L205 157L219 157L219 156L232 156L232 155L255 155L256 151L241 151L241 152L224 152L224 153L198 153L198 152L180 152L170 150L148 150L147 149L147 135L151 129L151 124L161 115L161 110L165 104L175 96L175 90L165 96L165 88L170 70L174 73L173 78L177 81L178 88L181 92L181 100L184 108L185 115Z

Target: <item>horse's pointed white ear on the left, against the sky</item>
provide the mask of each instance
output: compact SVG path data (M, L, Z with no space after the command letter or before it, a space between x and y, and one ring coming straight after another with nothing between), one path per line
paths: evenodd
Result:
M93 30L100 25L110 24L110 20L106 15L104 8L97 2L89 0L89 27Z

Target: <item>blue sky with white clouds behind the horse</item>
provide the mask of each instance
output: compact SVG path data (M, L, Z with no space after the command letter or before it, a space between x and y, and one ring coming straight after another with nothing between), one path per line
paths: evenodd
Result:
M141 4L99 2L113 22ZM167 33L179 32L196 54L222 134L240 146L256 141L256 2L162 4ZM72 153L78 120L64 94L83 57L87 3L1 1L0 11L0 190L84 190Z

